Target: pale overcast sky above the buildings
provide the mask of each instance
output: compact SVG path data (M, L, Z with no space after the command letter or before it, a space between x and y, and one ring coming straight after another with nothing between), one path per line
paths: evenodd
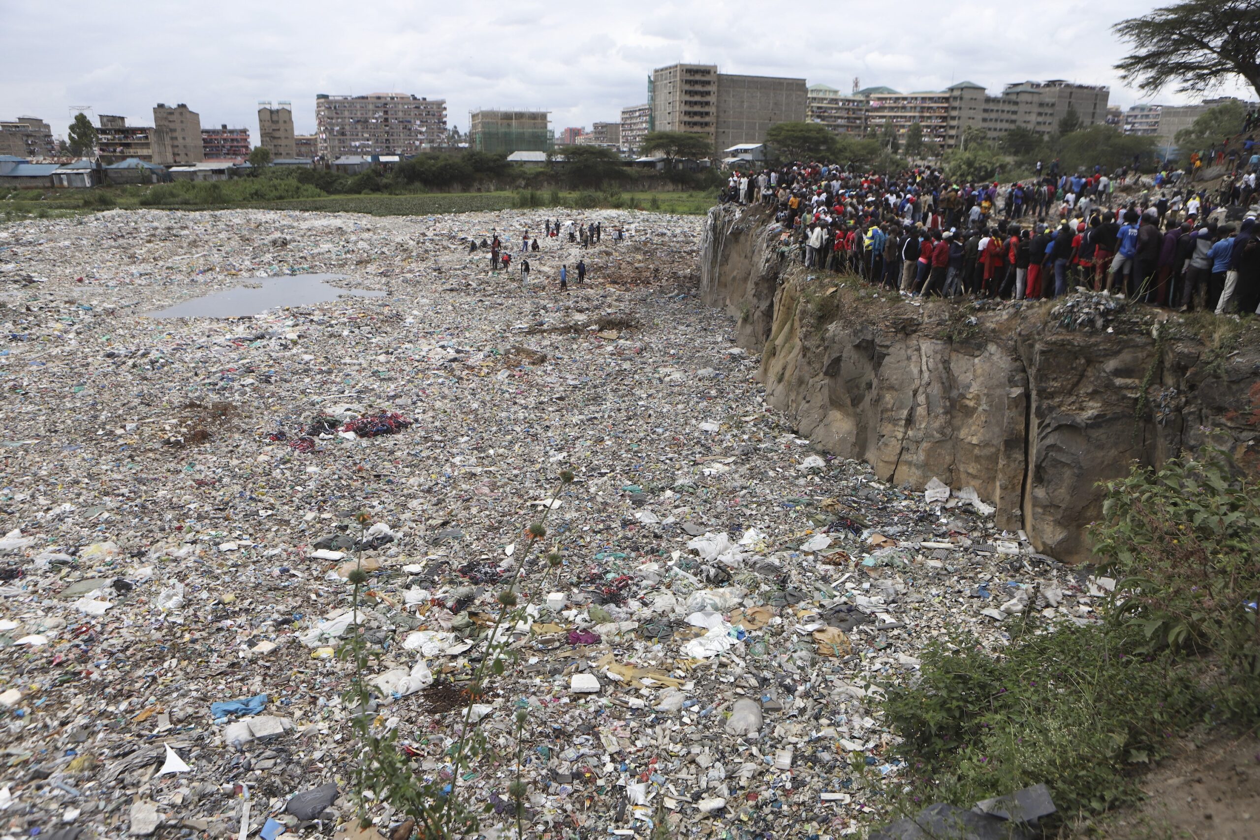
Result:
M1065 78L1108 84L1123 107L1186 102L1172 91L1144 98L1111 69L1124 47L1110 25L1155 5L0 0L0 118L42 117L64 135L76 106L151 125L155 103L186 102L203 127L244 126L257 142L260 99L291 101L297 133L314 133L316 93L397 91L445 97L460 130L470 110L530 107L549 110L558 133L617 120L646 101L653 68L679 60L842 91L854 77L898 91L968 79L990 92Z

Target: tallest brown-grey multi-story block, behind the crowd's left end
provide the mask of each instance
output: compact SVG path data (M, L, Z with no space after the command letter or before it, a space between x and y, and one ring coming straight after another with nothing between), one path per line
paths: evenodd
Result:
M653 72L649 89L653 130L701 133L716 149L761 142L770 126L805 120L805 79L670 64Z

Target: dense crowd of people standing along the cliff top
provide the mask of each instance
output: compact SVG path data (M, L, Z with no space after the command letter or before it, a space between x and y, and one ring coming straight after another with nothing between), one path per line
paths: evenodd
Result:
M1208 220L1218 199L1250 207L1254 171L1225 179L1223 195L1158 174L1154 189L1121 195L1128 167L1037 171L958 184L932 167L796 164L736 173L723 200L770 205L785 258L906 296L1046 298L1085 286L1181 311L1260 307L1255 219Z

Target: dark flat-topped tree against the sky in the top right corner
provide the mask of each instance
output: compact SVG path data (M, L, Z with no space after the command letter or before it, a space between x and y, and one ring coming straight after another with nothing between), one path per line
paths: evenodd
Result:
M1241 76L1260 93L1260 0L1182 0L1113 30L1134 48L1115 68L1144 91L1205 93Z

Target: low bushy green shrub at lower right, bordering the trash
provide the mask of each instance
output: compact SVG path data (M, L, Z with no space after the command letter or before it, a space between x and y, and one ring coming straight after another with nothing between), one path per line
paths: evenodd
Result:
M1134 642L1091 625L1026 635L998 656L974 639L929 649L919 684L885 701L905 738L905 805L963 806L1038 782L1066 814L1135 800L1128 771L1166 752L1198 696L1167 656L1128 655Z

